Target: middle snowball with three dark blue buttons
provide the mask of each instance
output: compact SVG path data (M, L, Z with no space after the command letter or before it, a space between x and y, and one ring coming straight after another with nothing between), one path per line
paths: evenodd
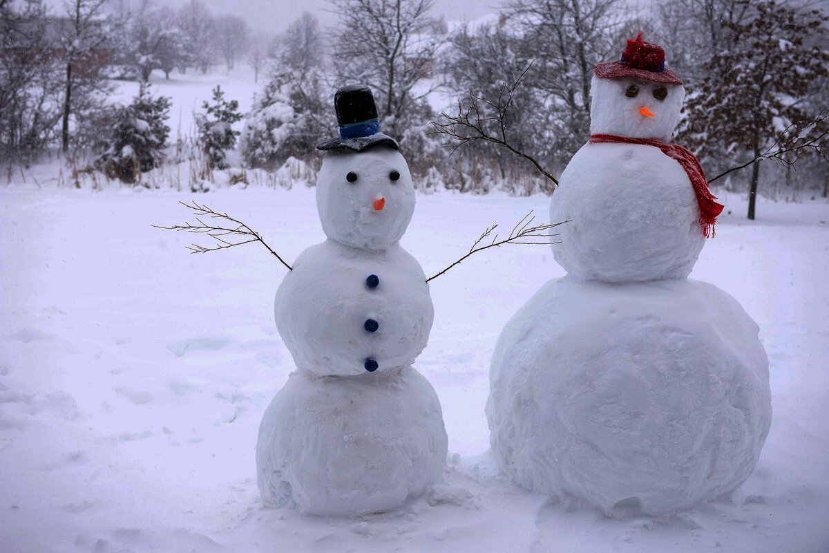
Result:
M366 283L372 274L373 288ZM376 375L414 362L434 308L423 269L400 245L361 250L326 240L299 255L277 289L274 314L299 368L360 375L371 359ZM366 330L370 319L374 332Z

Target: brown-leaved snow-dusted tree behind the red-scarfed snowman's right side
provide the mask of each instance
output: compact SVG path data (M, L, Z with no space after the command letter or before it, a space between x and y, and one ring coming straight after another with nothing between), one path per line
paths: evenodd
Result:
M829 51L820 40L826 14L768 1L737 3L750 11L741 22L725 25L731 47L711 57L708 76L686 102L683 140L703 163L717 163L734 150L749 159L760 156L788 125L817 116L802 109L802 100L829 83ZM749 219L759 169L754 163Z

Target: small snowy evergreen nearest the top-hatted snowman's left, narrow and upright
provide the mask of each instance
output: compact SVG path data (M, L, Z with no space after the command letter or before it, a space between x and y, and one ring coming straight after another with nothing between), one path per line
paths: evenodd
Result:
M225 92L221 86L216 85L213 89L213 104L205 102L201 108L206 110L206 114L196 114L199 146L206 154L211 168L225 169L226 151L235 148L236 137L240 134L232 128L234 123L242 119L239 102L235 99L225 100Z

